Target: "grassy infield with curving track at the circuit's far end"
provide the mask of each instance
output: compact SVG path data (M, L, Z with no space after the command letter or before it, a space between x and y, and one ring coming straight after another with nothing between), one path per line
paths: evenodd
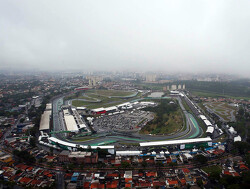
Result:
M140 97L140 93L121 90L88 90L68 97L76 107L99 108L115 106Z

